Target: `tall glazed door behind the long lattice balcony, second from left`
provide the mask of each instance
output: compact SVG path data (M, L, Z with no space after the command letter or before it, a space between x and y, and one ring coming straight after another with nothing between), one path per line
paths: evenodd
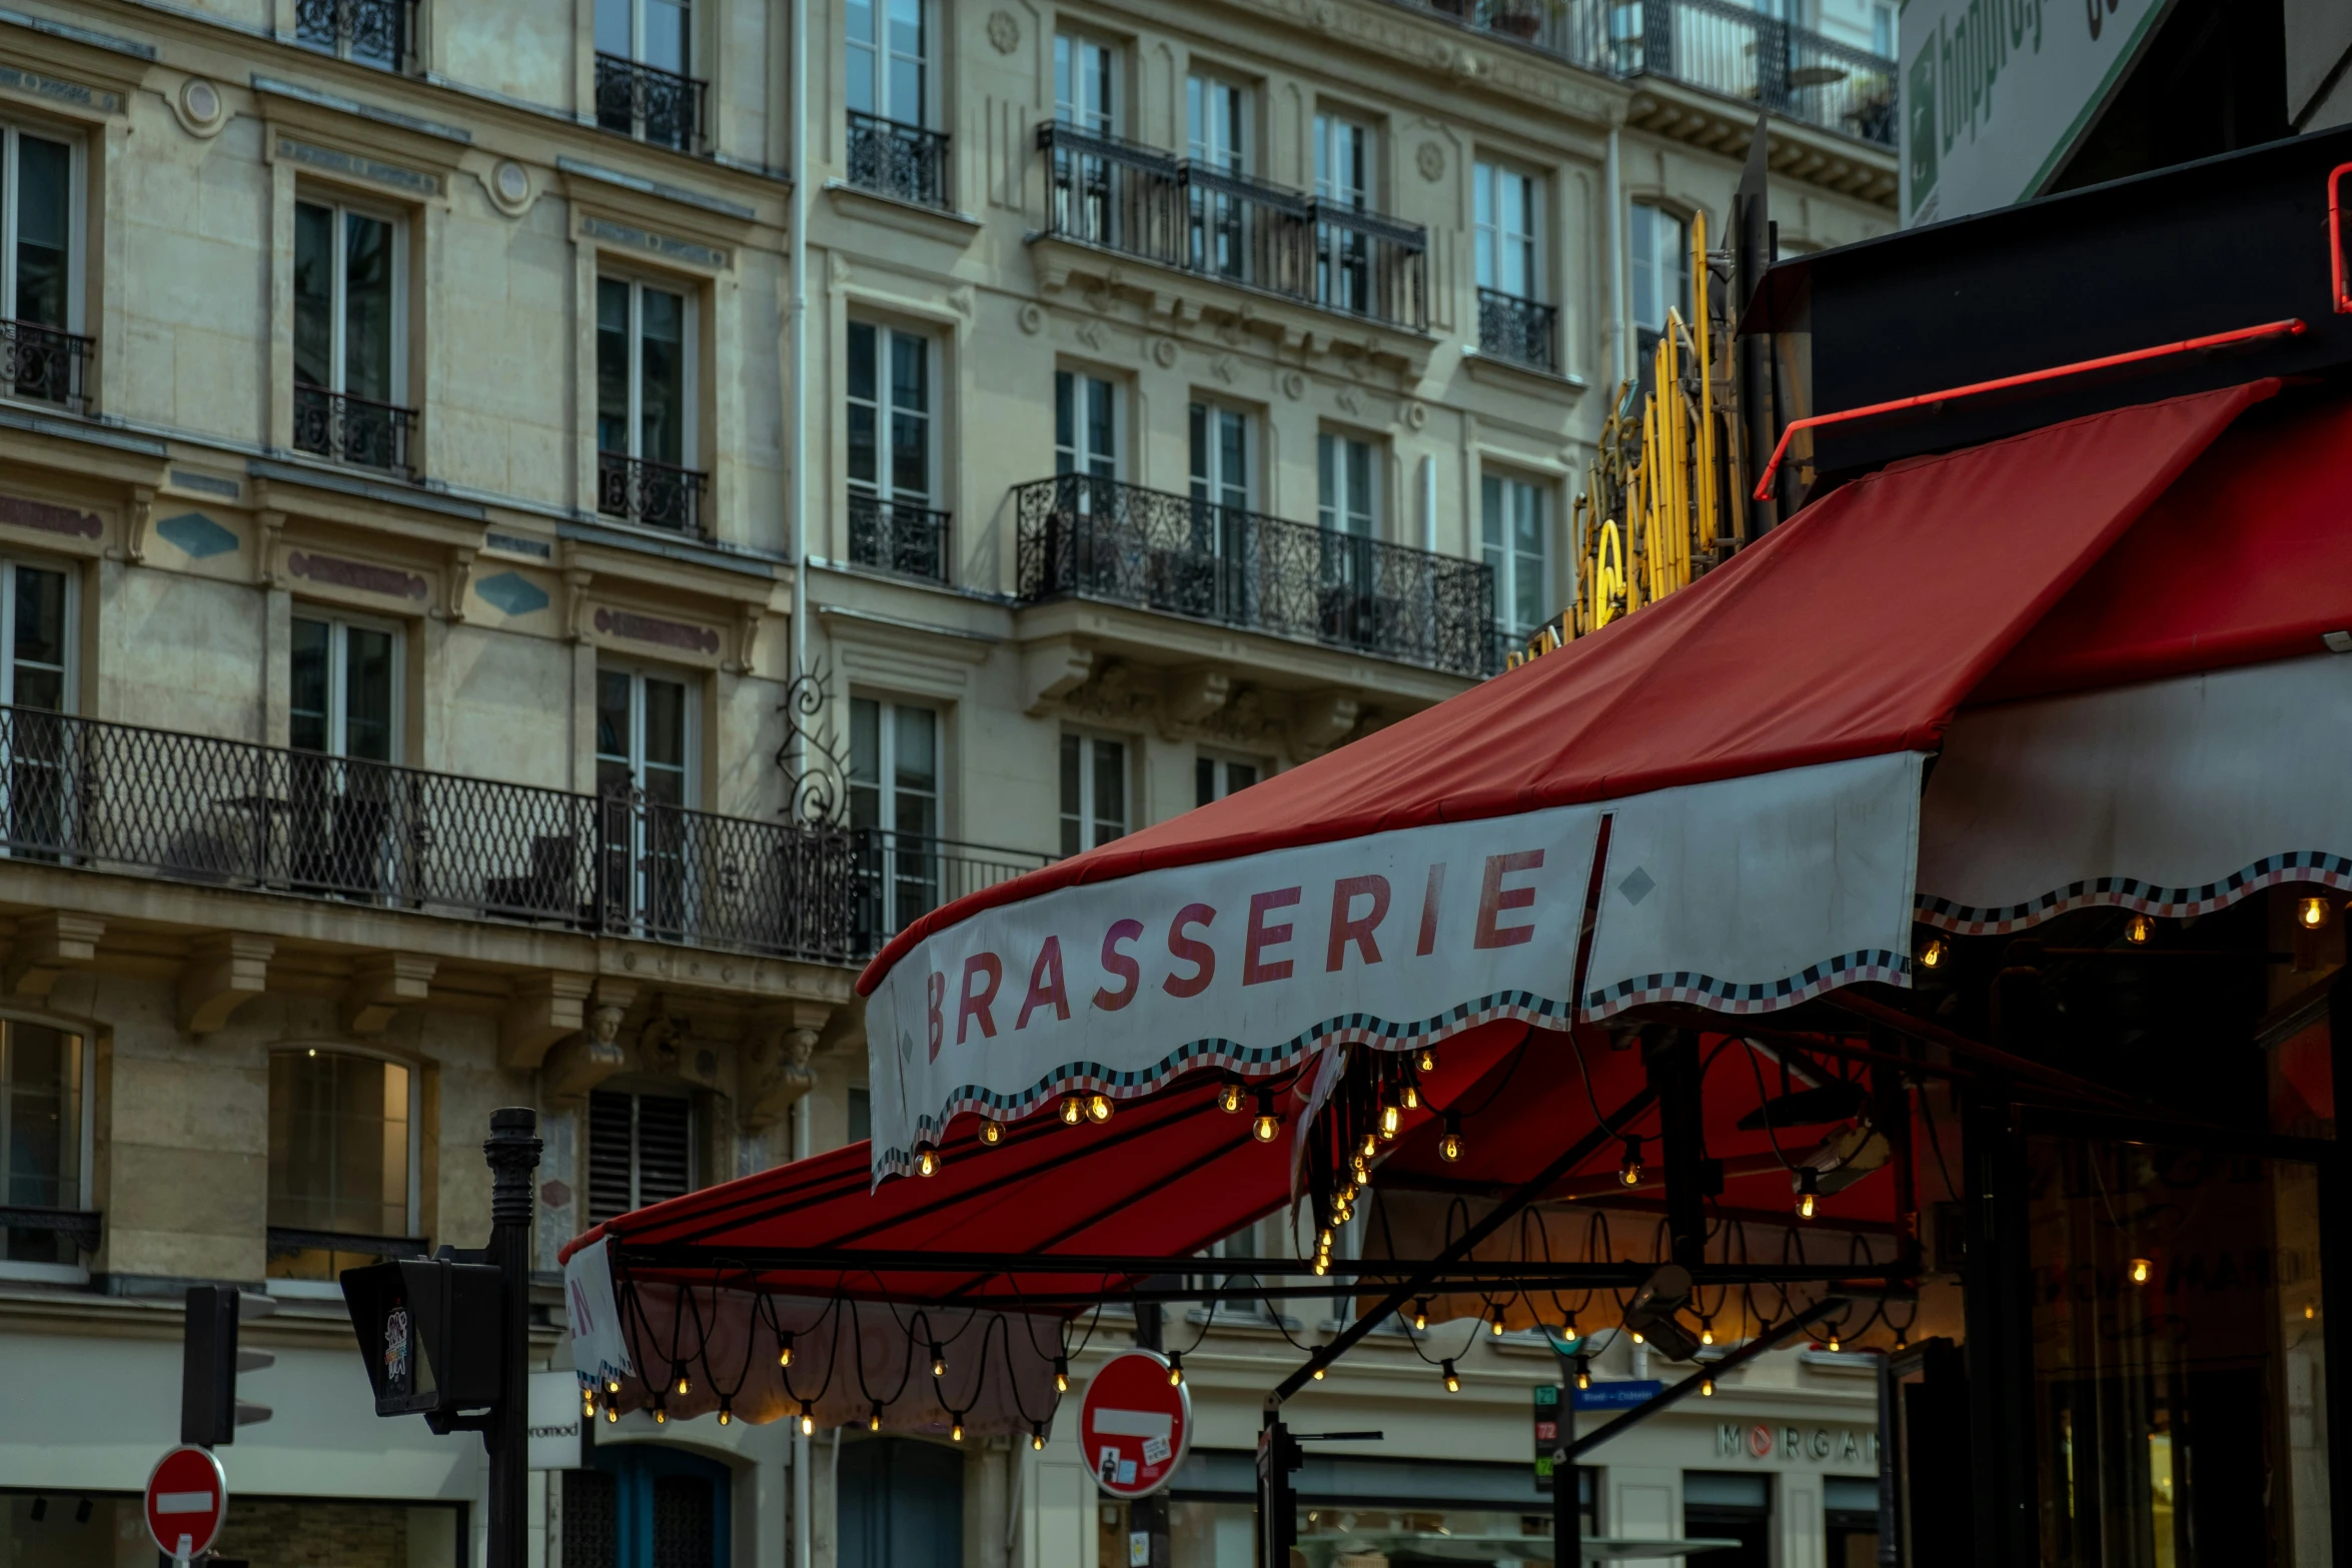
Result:
M287 877L294 886L376 896L397 886L400 630L294 616L287 658ZM254 799L268 835L275 802Z

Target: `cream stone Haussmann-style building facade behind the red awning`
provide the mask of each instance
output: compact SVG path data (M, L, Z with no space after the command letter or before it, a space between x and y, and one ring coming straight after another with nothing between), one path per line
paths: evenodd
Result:
M492 1107L550 1269L856 1138L889 929L1489 672L1757 101L1783 247L1893 221L1891 7L1639 9L0 9L7 1561L139 1556L216 1279L254 1519L470 1559L332 1274L487 1234ZM1214 1331L1209 1441L1287 1354ZM1545 1359L1428 1425L1383 1356L1388 1458L1524 1458ZM612 1436L550 1563L882 1561L840 1439ZM1096 1568L1075 1453L957 1465L922 1561Z

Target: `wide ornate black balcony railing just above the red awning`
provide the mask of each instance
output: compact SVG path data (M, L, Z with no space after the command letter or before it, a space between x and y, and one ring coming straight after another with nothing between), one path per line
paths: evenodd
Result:
M1014 489L1021 599L1136 604L1277 637L1491 675L1494 571L1141 484Z

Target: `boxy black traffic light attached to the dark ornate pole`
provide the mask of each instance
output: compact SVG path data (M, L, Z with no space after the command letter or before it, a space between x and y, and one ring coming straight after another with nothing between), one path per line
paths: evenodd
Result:
M343 1305L376 1389L376 1415L423 1415L440 1432L459 1410L499 1403L506 1309L499 1265L400 1258L343 1269Z

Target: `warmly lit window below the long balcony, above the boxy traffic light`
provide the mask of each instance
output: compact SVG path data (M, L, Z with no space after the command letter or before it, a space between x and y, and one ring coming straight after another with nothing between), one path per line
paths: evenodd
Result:
M416 1229L416 1074L318 1046L270 1053L270 1279L383 1258Z

